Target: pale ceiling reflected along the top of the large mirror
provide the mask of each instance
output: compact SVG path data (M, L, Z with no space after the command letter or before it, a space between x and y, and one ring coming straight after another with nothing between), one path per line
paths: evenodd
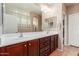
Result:
M34 3L5 3L5 7L10 9L20 9L24 11L41 14L40 6L37 6Z

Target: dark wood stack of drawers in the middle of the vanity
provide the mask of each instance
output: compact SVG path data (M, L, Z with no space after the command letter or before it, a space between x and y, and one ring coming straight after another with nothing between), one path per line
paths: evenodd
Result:
M50 54L50 36L40 39L40 56L47 56Z

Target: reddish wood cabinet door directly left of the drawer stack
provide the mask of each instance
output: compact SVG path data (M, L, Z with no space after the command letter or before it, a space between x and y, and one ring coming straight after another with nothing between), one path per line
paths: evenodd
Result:
M28 41L28 55L38 56L39 55L39 40Z

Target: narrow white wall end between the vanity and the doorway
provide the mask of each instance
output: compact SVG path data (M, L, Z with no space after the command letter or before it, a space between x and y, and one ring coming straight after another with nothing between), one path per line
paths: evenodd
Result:
M58 47L61 51L63 51L63 12L62 12L62 4L57 4L57 26L59 32L59 41Z

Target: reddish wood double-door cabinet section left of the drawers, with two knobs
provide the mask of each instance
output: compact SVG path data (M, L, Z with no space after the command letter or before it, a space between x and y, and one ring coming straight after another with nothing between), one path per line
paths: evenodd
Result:
M39 56L39 39L1 47L0 56Z

